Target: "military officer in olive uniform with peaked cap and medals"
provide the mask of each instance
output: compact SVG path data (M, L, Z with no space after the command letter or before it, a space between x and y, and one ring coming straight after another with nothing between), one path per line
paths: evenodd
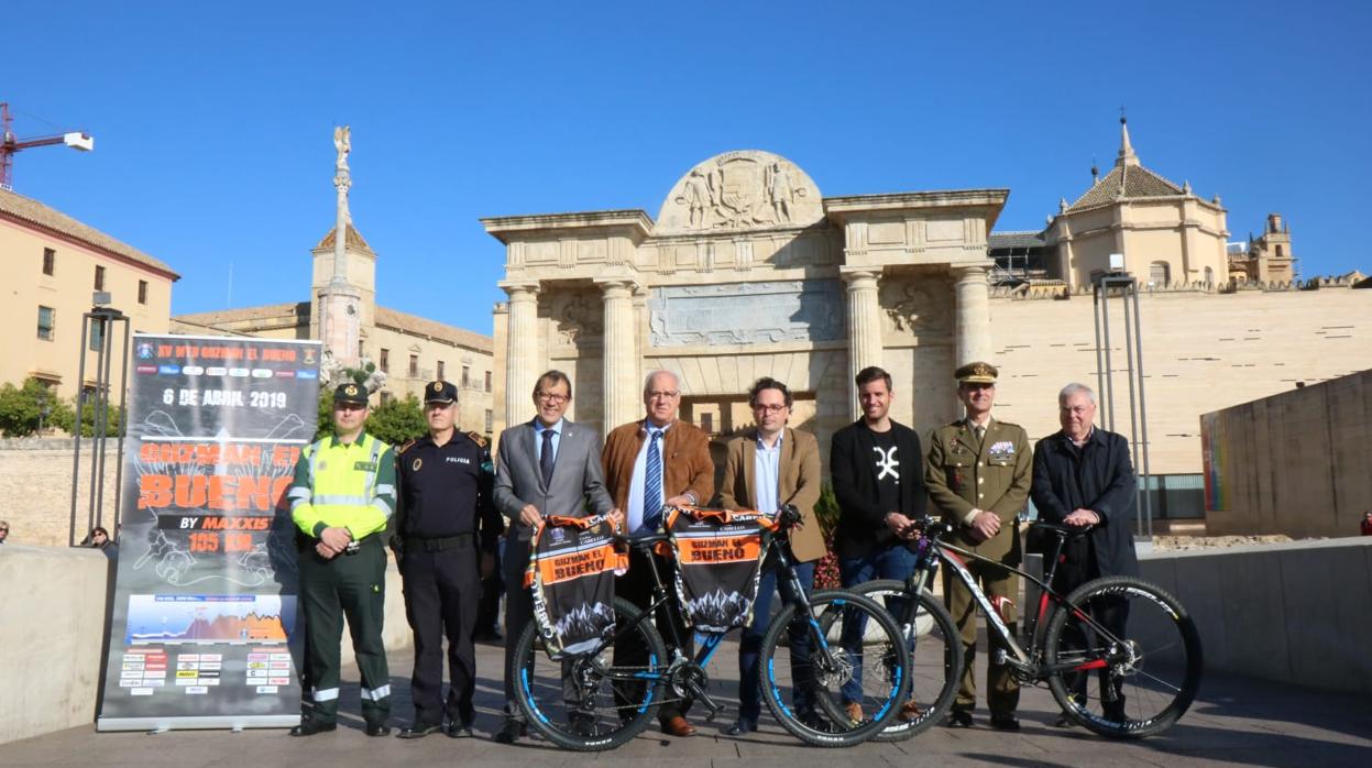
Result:
M995 366L973 362L959 368L955 376L958 398L966 416L934 429L925 473L929 498L944 518L956 527L954 544L993 562L1019 565L1018 517L1029 498L1033 476L1029 437L1024 427L991 416L996 398ZM1010 631L1015 632L1014 601L1019 579L999 565L981 561L969 560L967 569L1000 609ZM962 683L948 715L948 725L967 728L977 704L971 665L977 654L977 606L971 592L951 569L944 569L944 601L962 631L963 646ZM991 725L1015 731L1019 728L1019 720L1015 719L1019 683L1007 665L995 664L996 650L1004 643L999 635L988 635L991 662L986 669L986 705Z

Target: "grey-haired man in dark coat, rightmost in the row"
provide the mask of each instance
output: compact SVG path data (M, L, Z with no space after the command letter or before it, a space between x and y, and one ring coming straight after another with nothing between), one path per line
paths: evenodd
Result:
M1121 435L1092 425L1096 395L1084 384L1067 384L1058 394L1058 421L1062 431L1034 448L1030 496L1045 523L1074 528L1091 527L1085 536L1070 539L1063 561L1054 575L1052 588L1062 594L1100 576L1137 576L1133 551L1133 509L1137 481L1129 461L1129 443ZM1128 605L1118 601L1096 606L1096 620L1124 635ZM1078 638L1084 642L1084 638ZM1073 686L1085 697L1085 675ZM1102 695L1106 716L1124 719L1124 695ZM1066 716L1058 720L1066 725Z

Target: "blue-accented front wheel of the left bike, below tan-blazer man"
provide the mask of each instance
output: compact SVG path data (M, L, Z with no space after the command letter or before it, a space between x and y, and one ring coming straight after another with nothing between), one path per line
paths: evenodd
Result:
M830 628L838 628L830 639ZM910 691L910 650L875 601L841 590L788 605L763 638L767 708L814 746L853 746L881 732Z

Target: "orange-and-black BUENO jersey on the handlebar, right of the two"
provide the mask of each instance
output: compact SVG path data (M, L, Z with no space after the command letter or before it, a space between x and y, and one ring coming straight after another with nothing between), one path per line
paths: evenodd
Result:
M771 517L690 506L670 506L664 513L686 623L702 632L749 624Z

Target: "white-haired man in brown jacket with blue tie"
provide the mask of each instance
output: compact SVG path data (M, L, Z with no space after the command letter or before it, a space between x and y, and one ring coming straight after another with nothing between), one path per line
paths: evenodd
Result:
M664 505L700 505L715 495L715 465L709 458L709 437L696 425L676 420L681 407L681 380L668 370L654 370L643 383L643 406L648 414L642 421L632 421L615 428L605 437L601 464L605 466L605 488L615 501L615 507L624 510L630 532L663 527ZM657 560L657 571L665 584L675 581L675 564L670 558L652 555ZM653 601L652 566L645 555L630 553L628 571L615 583L615 594L639 608L648 608ZM676 628L681 650L687 657L693 654L690 629L681 620L681 606L671 594L671 609L660 610L657 628L663 638L671 642L668 624ZM648 661L648 649L635 643L620 642L615 647L615 664L642 665ZM626 686L627 697L622 704L639 701L632 687ZM690 699L667 702L657 716L663 732L672 736L691 736L696 728L686 721Z

